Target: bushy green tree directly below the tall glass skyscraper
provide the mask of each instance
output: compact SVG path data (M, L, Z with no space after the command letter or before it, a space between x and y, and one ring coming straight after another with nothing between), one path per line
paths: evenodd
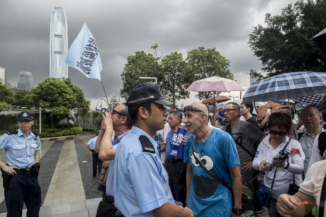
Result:
M71 105L76 102L73 90L63 80L48 77L32 89L31 99L35 105L50 108L51 128L54 115L68 115Z

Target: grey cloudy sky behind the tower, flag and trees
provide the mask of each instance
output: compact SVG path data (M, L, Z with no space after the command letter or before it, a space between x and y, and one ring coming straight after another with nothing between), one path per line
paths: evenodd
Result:
M7 81L17 86L21 71L29 71L34 86L49 76L50 18L54 6L64 7L68 25L68 47L83 23L92 32L99 48L103 71L101 77L107 94L119 93L120 74L127 56L135 51L152 52L159 45L164 55L203 46L216 47L230 60L234 78L246 90L250 69L260 72L261 63L249 48L248 34L264 24L267 12L272 15L294 0L120 0L120 1L1 1L0 66L7 69ZM68 67L72 82L85 92L95 109L104 98L97 79L88 79ZM224 95L239 96L239 91ZM223 94L222 94L223 95ZM242 94L244 95L244 93ZM192 92L184 104L198 101ZM241 100L238 100L241 102Z

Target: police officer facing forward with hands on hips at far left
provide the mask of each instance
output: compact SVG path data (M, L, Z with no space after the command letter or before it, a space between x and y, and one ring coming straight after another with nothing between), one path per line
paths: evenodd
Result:
M7 164L0 161L4 179L7 216L22 216L23 203L27 216L38 216L41 207L41 187L37 180L41 143L30 112L17 118L18 130L0 137L0 150L5 150Z

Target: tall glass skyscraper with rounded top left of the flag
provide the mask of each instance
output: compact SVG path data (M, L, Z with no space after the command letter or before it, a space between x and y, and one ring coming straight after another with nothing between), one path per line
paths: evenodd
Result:
M63 7L53 7L50 23L50 77L68 77L65 64L68 52L67 17Z

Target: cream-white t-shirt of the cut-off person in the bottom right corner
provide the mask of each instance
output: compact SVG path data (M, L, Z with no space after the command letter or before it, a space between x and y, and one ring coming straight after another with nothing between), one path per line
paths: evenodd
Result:
M324 177L326 173L326 160L321 160L308 169L304 182L300 185L299 191L305 195L315 197L317 210L319 210L321 187L323 185ZM324 209L324 215L326 216L326 209Z

